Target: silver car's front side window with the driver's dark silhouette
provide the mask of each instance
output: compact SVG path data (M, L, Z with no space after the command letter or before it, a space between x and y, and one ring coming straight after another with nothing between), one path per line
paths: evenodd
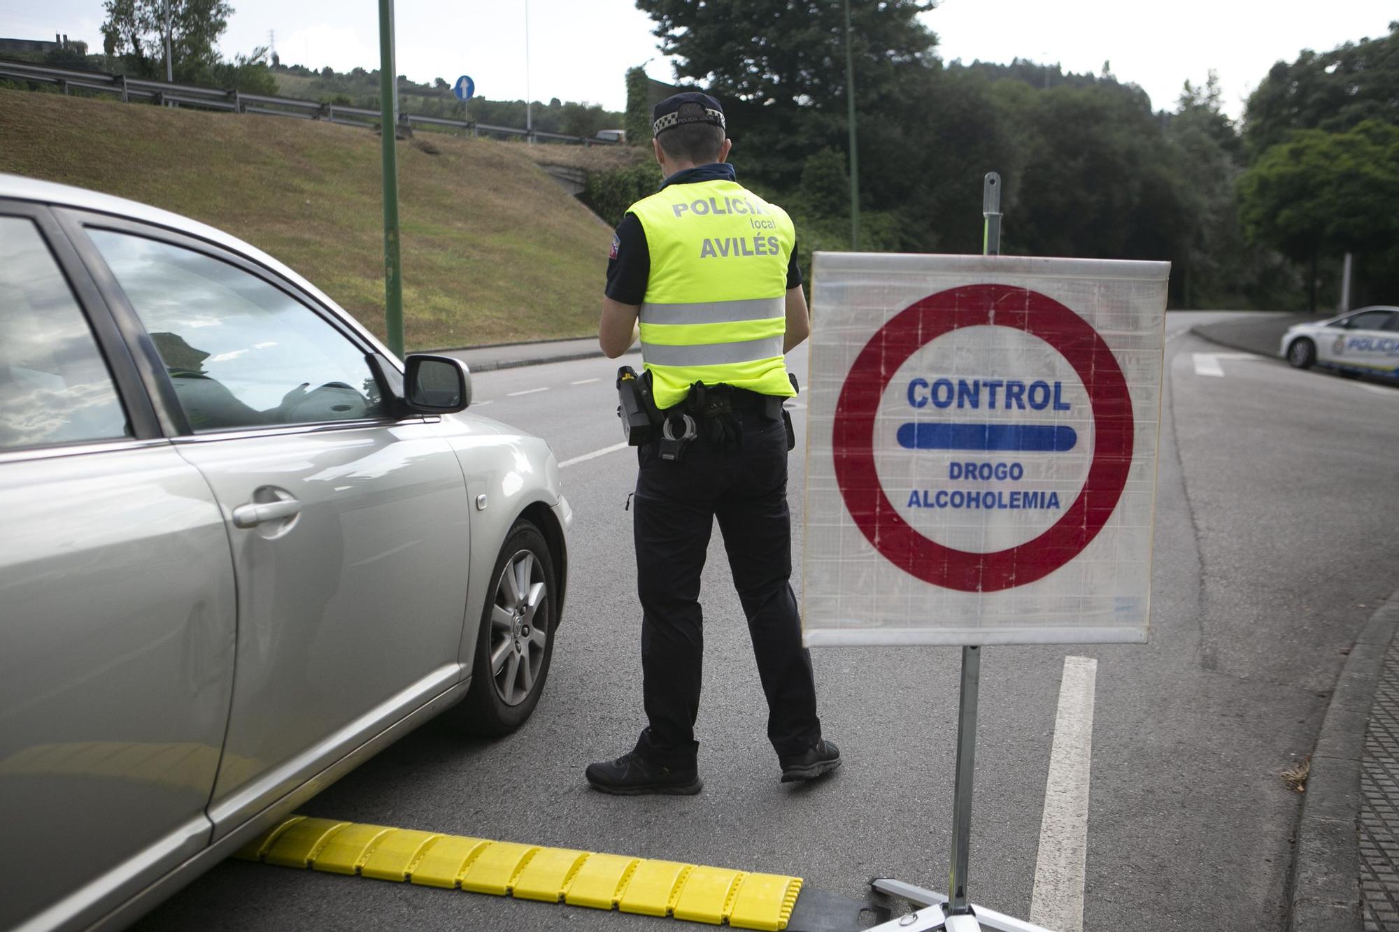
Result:
M88 230L145 325L196 432L383 417L364 353L242 269L158 239Z

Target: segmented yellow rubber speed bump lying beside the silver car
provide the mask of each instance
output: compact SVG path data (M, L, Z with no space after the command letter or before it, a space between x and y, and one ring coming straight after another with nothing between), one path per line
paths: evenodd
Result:
M595 910L620 908L711 925L727 922L740 929L771 932L786 928L802 890L802 877L775 873L305 816L284 819L234 856L285 868L564 901Z

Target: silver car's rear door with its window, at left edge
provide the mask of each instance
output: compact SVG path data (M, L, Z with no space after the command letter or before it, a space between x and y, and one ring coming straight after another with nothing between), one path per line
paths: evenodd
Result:
M6 202L0 515L0 928L87 926L210 841L232 560L71 243Z

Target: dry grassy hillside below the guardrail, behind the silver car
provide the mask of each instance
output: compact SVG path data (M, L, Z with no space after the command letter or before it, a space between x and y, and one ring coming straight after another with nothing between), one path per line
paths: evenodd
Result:
M399 143L410 348L596 332L611 232L523 154L436 133ZM383 334L374 133L0 90L0 171L227 230Z

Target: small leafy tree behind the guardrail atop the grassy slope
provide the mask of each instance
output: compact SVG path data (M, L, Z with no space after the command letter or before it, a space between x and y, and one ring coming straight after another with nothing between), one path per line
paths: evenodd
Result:
M218 36L232 14L224 0L169 0L171 62L176 81L208 78L218 64ZM165 0L105 0L102 49L122 56L141 77L165 77Z

